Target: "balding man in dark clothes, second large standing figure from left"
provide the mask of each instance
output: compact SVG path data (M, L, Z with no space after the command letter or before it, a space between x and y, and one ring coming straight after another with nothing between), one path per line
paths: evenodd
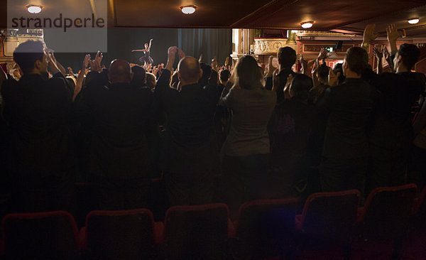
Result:
M87 171L99 186L102 210L146 207L155 101L148 87L131 85L132 77L126 60L113 60L110 84L87 87L78 102L92 129Z

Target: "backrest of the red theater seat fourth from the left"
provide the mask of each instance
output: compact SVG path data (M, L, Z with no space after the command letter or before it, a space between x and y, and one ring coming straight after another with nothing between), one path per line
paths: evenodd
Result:
M253 200L241 205L236 222L236 258L282 255L293 241L296 199Z

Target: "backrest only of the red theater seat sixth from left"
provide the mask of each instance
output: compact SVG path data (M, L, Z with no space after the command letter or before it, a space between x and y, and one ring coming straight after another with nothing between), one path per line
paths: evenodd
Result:
M366 239L395 239L406 232L417 193L415 184L375 188L361 217Z

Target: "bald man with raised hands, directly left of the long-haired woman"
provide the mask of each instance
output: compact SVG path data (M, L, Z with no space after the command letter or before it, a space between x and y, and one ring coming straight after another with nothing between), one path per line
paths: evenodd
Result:
M213 120L219 90L198 83L200 63L189 56L178 64L178 90L171 88L176 53L177 47L169 48L168 63L155 87L167 114L162 158L166 188L171 205L207 204L212 202L212 179L219 161Z

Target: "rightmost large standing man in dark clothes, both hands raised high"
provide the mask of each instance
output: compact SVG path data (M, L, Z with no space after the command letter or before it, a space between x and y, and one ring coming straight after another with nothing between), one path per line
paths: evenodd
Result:
M366 27L364 45L376 38L373 29L373 25ZM378 105L368 134L371 153L368 191L406 183L408 158L414 139L411 108L425 91L425 75L411 72L420 57L419 48L404 43L398 50L397 28L390 25L386 31L391 55L394 55L395 73L373 74L370 81L378 91Z

